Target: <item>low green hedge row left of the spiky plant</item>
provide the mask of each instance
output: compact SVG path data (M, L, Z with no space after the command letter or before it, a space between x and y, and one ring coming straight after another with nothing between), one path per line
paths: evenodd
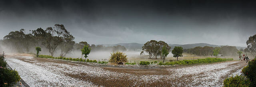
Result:
M82 58L66 58L66 57L52 57L50 55L38 55L41 58L52 58L52 59L62 59L62 60L69 60L69 61L82 61L82 62L91 62L91 63L100 63L100 64L107 64L107 61L96 61L96 60L89 60L89 59L82 59Z

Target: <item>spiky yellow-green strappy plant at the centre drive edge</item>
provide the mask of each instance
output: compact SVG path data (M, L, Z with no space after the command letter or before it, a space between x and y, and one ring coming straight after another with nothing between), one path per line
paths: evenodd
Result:
M114 62L114 63L118 63L118 64L122 64L127 62L127 55L121 51L116 51L116 52L112 52L110 53L110 62Z

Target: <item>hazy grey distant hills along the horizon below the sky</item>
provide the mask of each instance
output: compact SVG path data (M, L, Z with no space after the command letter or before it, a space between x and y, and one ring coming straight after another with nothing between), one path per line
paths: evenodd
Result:
M142 49L142 46L144 44L141 44L141 43L117 43L117 44L98 44L98 45L103 45L105 47L108 47L108 46L116 46L116 45L122 45L124 46L126 49L129 49L129 50L134 50L134 49ZM210 46L210 47L220 47L220 45L212 45L212 44L208 44L208 43L193 43L193 44L184 44L184 45L181 45L181 44L168 44L170 47L172 47L172 49L175 47L175 46L181 46L183 47L183 49L189 49L189 48L194 48L194 47L197 47L197 46L200 46L200 47L204 47L204 46ZM246 47L236 47L237 49L240 49L240 48L246 48Z

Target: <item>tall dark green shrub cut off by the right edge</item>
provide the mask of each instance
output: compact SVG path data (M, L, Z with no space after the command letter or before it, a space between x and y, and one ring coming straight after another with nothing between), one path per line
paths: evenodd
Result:
M242 72L251 81L252 87L256 87L256 58L248 62L248 65L242 69Z

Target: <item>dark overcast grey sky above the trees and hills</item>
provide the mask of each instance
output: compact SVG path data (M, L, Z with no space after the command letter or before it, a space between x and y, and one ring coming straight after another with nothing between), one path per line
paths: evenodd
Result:
M64 24L90 44L210 43L246 46L256 34L253 0L0 0L0 38Z

